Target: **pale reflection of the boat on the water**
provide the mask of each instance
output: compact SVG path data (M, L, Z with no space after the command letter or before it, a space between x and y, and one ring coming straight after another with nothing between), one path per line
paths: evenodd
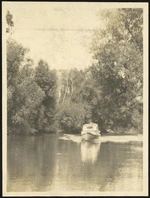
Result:
M81 142L81 160L84 163L94 164L100 151L101 143Z

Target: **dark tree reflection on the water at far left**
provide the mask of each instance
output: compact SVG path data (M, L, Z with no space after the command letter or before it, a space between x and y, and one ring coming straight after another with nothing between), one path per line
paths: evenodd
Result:
M50 188L56 166L56 137L10 138L8 191L43 191Z

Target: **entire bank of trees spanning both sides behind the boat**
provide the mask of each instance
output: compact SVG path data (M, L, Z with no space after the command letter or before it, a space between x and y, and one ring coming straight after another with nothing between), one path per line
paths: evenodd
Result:
M34 65L28 50L8 39L8 133L77 133L90 121L102 132L142 133L143 10L104 10L100 17L105 26L91 47L96 61L85 70Z

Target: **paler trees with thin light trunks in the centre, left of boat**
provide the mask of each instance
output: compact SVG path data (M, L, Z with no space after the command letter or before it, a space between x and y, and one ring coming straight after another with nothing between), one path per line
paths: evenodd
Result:
M61 95L55 124L63 132L81 132L82 125L91 119L91 106L95 97L91 79L86 72L74 68L60 71L59 84Z

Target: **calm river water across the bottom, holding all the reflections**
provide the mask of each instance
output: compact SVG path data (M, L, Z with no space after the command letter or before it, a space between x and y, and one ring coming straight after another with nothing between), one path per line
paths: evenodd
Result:
M142 191L142 178L142 141L8 136L8 192Z

